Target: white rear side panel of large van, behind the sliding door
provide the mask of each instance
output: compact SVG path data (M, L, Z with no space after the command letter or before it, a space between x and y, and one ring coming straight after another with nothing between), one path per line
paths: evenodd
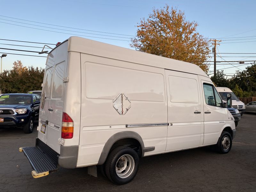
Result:
M77 167L97 164L105 143L117 132L137 132L145 147L155 147L145 155L164 152L167 126L125 126L167 123L164 69L81 53L81 72ZM120 93L131 101L125 115L119 115L113 107L113 100Z

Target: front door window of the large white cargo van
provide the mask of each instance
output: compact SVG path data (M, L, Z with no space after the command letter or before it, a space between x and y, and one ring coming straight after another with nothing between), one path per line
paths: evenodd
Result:
M222 101L216 89L211 84L204 84L204 98L207 105L222 106Z

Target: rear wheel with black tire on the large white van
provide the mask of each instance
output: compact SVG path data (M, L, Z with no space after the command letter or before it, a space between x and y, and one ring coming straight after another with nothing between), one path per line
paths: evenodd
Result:
M120 146L108 155L105 163L106 175L118 185L129 183L139 169L139 156L135 150Z

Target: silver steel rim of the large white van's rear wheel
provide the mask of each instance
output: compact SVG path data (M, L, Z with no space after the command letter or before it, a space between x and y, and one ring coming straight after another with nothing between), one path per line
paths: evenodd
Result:
M125 179L129 177L135 168L135 161L131 155L125 154L116 162L116 174L118 177Z

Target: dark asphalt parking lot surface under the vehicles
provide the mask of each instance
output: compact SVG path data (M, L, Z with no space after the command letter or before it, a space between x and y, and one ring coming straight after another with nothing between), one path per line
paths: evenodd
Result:
M117 186L87 168L63 169L34 179L19 147L35 145L33 133L0 130L0 191L256 191L256 114L244 114L228 154L196 148L144 157L135 179Z

